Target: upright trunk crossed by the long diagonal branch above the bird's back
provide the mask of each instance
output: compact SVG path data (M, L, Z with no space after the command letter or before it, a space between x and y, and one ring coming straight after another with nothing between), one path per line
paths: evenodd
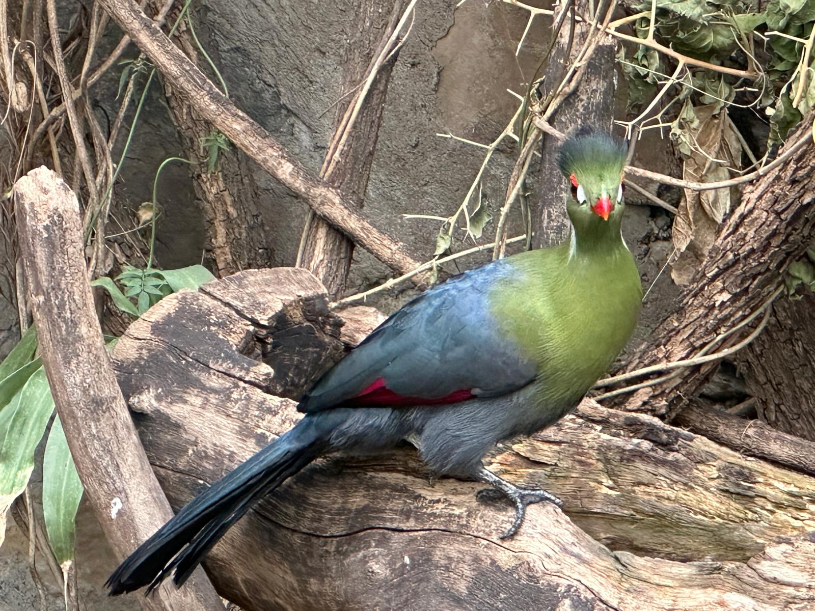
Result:
M355 13L359 15L359 29L354 42L348 47L349 57L342 71L341 95L352 90L357 93L337 104L334 134L320 174L350 200L358 201L360 207L368 188L373 152L377 146L390 71L396 54L384 64L380 65L378 60L380 55L387 56L395 46L396 41L389 43L389 40L399 23L403 5L401 0L394 2L390 17L382 11L379 0L360 0L359 6L355 7ZM370 73L377 76L371 89L363 91ZM360 98L362 106L351 120L346 115L355 108ZM328 289L328 295L336 299L345 288L354 242L314 213L310 213L308 218L305 244L298 265L310 270Z

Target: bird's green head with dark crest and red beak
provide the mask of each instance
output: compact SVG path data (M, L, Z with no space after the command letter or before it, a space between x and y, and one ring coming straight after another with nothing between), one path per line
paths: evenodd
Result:
M571 182L566 209L576 232L619 235L625 157L622 143L605 134L578 133L562 144L557 164Z

